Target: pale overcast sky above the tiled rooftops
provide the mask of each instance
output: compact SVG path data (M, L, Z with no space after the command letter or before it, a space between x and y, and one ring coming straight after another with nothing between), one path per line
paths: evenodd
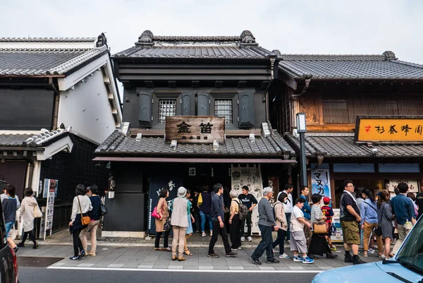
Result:
M288 54L382 54L423 64L423 1L2 1L0 37L95 37L112 54L154 35L240 35Z

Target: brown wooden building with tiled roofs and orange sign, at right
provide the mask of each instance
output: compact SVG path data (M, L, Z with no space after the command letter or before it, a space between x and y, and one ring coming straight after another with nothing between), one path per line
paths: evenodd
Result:
M312 193L332 198L345 179L374 191L422 184L423 66L381 55L279 55L271 122L299 154L295 115L307 115ZM295 173L298 173L295 172Z

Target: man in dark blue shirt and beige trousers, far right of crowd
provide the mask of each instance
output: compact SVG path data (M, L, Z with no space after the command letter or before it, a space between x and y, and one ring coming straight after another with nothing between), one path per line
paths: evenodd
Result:
M405 237L410 233L412 225L416 224L416 215L412 200L407 198L408 185L407 183L398 183L398 190L400 193L392 198L391 205L395 211L398 241L393 246L392 253L396 254ZM411 221L411 224L410 224Z

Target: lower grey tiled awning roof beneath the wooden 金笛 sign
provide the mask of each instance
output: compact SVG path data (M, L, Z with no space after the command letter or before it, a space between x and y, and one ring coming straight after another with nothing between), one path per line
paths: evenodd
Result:
M116 130L100 145L96 152L99 155L134 154L134 155L294 155L293 149L283 140L281 135L274 133L268 138L256 137L250 141L248 137L226 137L224 144L219 144L218 150L213 150L211 144L178 143L176 149L165 143L164 137L127 137ZM275 156L276 157L276 156Z

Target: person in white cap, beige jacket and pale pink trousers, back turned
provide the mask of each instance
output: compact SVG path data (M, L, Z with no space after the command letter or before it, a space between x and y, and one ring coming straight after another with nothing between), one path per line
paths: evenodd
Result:
M173 242L172 242L172 260L182 261L183 247L185 246L185 231L188 227L188 200L185 198L187 189L178 188L178 197L172 200L172 217L171 224L173 226ZM179 255L176 250L179 242Z

